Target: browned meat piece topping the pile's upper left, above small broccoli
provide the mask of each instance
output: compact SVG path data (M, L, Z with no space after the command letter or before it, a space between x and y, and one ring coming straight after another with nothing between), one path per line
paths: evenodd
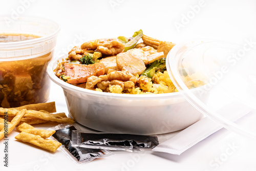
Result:
M91 49L105 55L116 55L124 50L124 45L117 38L103 38L84 42L81 49Z

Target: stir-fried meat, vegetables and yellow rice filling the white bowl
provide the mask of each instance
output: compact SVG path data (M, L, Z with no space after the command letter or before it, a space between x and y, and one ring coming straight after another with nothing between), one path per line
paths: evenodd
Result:
M139 42L142 39L143 42ZM54 69L74 86L99 92L160 94L177 92L166 71L165 59L173 42L148 37L138 30L130 38L104 38L74 47ZM189 78L187 78L189 79ZM202 86L191 80L191 87Z

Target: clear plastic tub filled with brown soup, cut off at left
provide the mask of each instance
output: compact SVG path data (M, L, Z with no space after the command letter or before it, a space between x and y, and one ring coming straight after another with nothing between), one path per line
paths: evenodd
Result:
M56 45L59 26L45 18L0 17L0 34L28 34L39 38L0 42L0 107L46 102L50 79L46 69Z

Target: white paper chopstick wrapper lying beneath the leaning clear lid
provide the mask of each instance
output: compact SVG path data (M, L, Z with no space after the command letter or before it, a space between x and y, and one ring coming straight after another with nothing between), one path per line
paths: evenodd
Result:
M226 114L225 118L231 118L231 121L236 121L251 111L248 108L241 108L241 105L234 105L233 108L238 108L238 112L236 115L230 115L230 106L227 107L228 108L222 109L221 112ZM155 148L153 148L152 151L180 155L191 146L197 144L221 128L222 126L214 120L211 120L208 117L204 117L175 136L169 138L163 143L160 143Z

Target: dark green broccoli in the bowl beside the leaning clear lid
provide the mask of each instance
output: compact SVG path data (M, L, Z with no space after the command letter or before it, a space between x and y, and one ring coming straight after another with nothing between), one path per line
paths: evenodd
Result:
M155 60L154 62L152 62L147 69L141 74L141 75L145 75L149 78L152 78L156 71L160 70L161 72L166 71L166 64L165 64L165 58L160 58L158 60Z

